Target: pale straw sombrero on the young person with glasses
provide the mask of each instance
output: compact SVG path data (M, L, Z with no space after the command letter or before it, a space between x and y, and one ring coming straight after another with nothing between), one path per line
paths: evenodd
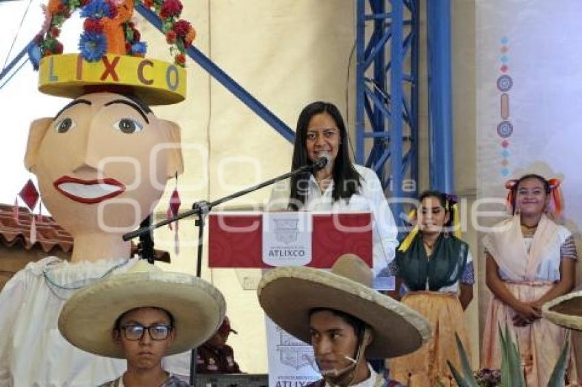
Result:
M59 330L84 351L125 358L112 340L114 323L127 310L149 306L163 308L175 319L176 340L168 355L204 343L220 327L226 308L222 293L205 280L138 261L125 273L96 282L68 299L59 316Z

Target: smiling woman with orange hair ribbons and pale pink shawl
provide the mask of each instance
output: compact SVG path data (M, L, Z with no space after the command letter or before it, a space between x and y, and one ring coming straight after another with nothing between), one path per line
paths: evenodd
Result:
M501 368L499 327L514 332L528 386L547 386L566 343L566 330L542 319L542 304L572 291L578 261L572 233L548 215L559 215L559 181L535 174L508 181L513 217L485 239L486 282L493 293L481 366ZM551 202L553 199L553 206ZM571 367L570 379L576 371Z

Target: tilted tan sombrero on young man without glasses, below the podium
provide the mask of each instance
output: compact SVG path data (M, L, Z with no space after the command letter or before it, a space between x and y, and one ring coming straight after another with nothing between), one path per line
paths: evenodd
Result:
M344 254L331 271L277 267L257 289L259 302L283 330L310 343L309 310L331 308L364 321L374 330L368 358L393 358L418 349L431 336L429 323L415 310L375 291L372 271L353 254Z

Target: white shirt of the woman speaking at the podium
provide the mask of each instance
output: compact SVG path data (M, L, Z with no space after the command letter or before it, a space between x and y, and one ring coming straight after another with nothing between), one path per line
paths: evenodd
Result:
M374 276L392 262L398 247L396 224L390 206L386 201L384 191L374 171L354 164L362 176L362 187L349 200L333 201L333 181L325 191L321 191L313 175L309 178L307 201L303 211L333 211L372 213L372 242ZM269 200L269 211L286 210L290 195L290 181L280 181L273 187Z

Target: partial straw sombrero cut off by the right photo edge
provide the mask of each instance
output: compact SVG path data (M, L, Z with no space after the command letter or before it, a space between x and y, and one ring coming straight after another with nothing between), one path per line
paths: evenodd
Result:
M546 302L542 314L557 325L582 331L582 289Z

